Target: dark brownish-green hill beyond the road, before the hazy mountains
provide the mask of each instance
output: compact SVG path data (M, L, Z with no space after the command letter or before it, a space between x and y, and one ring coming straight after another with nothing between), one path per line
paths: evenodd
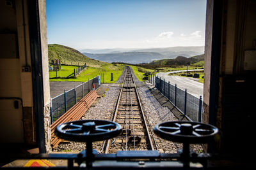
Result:
M148 65L154 65L154 66L180 66L180 65L186 65L186 64L192 64L195 62L199 62L204 60L204 54L202 55L196 55L193 57L184 57L184 56L178 56L175 59L163 59L163 60L154 60L150 62Z

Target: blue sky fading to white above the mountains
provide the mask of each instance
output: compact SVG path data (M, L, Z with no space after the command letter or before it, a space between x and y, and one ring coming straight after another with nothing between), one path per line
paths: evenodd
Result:
M48 43L83 48L204 45L206 0L46 0Z

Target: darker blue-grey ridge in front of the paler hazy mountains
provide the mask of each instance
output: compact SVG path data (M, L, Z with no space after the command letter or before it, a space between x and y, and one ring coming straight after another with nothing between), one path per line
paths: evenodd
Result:
M84 55L105 62L125 62L137 64L151 62L154 59L163 59L164 55L156 52L122 52L122 53L83 53Z

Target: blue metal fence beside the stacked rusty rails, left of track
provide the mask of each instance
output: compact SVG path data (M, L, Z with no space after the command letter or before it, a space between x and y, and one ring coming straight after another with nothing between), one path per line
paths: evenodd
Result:
M51 99L51 123L67 112L77 101L82 99L91 90L97 90L100 86L100 76L96 76L73 89ZM94 89L93 89L94 88Z

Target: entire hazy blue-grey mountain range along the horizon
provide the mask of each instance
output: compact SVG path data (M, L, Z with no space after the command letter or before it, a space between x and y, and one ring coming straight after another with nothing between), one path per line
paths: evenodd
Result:
M168 48L111 48L83 49L86 56L105 62L127 62L138 64L159 59L173 59L177 56L191 57L204 53L204 46L174 46Z

